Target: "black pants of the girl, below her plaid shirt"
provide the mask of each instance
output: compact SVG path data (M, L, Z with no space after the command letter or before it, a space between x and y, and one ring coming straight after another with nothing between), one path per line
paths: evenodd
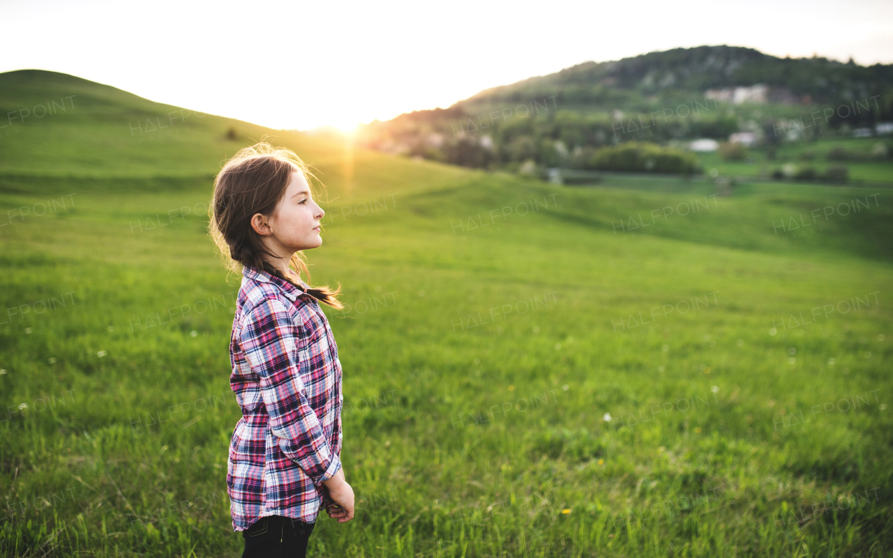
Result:
M307 541L315 526L281 515L262 517L242 531L242 558L305 558Z

